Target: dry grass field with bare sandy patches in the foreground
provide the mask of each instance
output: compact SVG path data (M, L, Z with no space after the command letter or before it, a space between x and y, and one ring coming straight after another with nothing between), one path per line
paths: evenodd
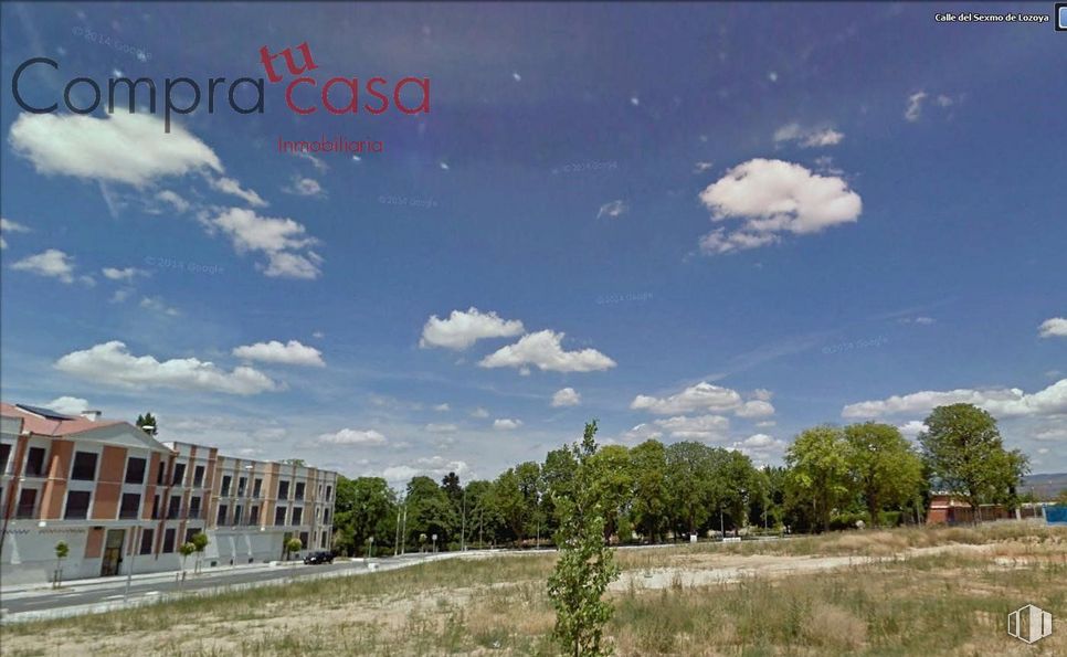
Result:
M1067 528L997 523L621 550L619 655L1065 655ZM4 626L2 655L553 655L553 553ZM1006 635L1034 603L1058 633Z

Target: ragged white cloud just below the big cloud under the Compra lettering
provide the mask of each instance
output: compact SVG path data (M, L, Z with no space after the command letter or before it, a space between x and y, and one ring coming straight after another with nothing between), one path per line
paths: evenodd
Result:
M225 232L239 253L264 253L267 276L318 278L321 274L323 258L310 250L318 241L292 219L260 216L253 210L230 208L209 220L208 225Z

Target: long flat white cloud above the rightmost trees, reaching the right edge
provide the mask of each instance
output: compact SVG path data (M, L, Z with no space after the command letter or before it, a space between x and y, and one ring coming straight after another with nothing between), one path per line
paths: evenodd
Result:
M993 390L958 389L943 392L921 391L885 400L846 405L842 417L868 418L891 415L920 415L934 406L968 403L985 409L996 417L1045 416L1067 413L1067 379L1045 390L1026 394L1017 388Z

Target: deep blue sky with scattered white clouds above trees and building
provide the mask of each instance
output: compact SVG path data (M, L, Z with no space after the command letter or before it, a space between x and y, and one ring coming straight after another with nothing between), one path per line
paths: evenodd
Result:
M933 19L965 10L4 3L3 398L394 483L590 417L779 463L971 401L1061 471L1067 35ZM431 78L431 112L300 117L286 81L163 133L167 77L303 42L320 83ZM55 114L12 97L32 56ZM160 113L63 107L119 74ZM383 151L277 151L323 136Z

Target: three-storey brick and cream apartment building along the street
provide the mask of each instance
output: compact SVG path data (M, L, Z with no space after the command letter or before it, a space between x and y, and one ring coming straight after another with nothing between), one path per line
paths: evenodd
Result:
M181 568L204 532L205 568L328 549L337 474L161 443L127 422L0 403L0 579L50 581Z

